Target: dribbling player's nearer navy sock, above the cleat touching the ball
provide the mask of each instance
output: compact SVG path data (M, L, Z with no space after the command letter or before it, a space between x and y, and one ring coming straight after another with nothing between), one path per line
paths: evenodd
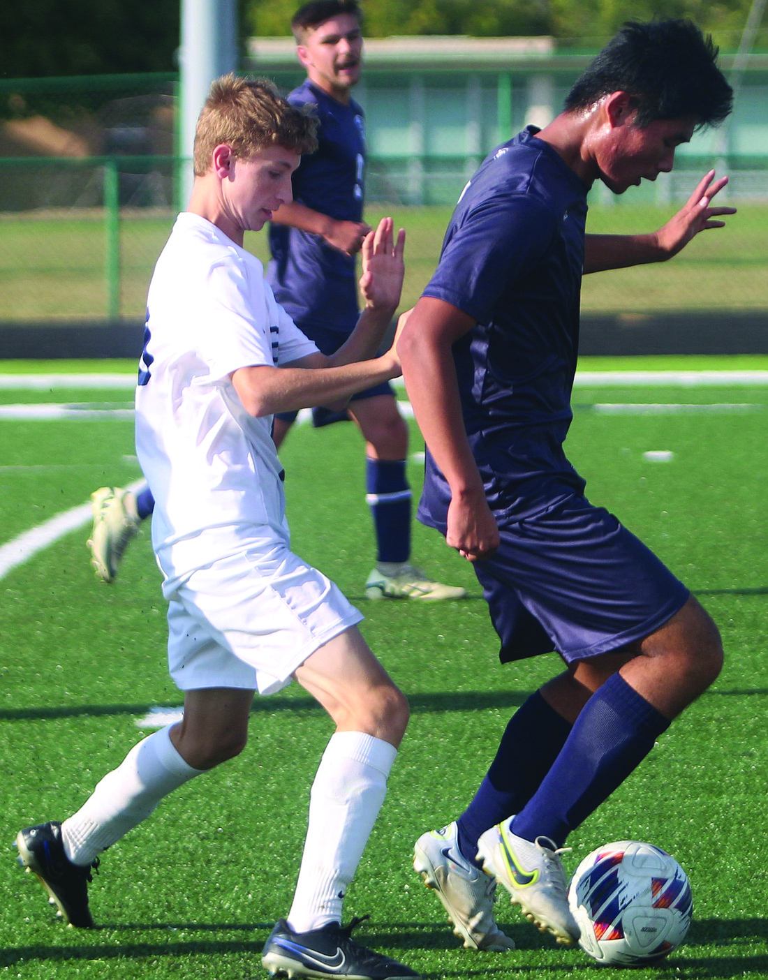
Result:
M621 785L653 748L669 720L615 673L589 698L560 755L512 832L558 847Z

